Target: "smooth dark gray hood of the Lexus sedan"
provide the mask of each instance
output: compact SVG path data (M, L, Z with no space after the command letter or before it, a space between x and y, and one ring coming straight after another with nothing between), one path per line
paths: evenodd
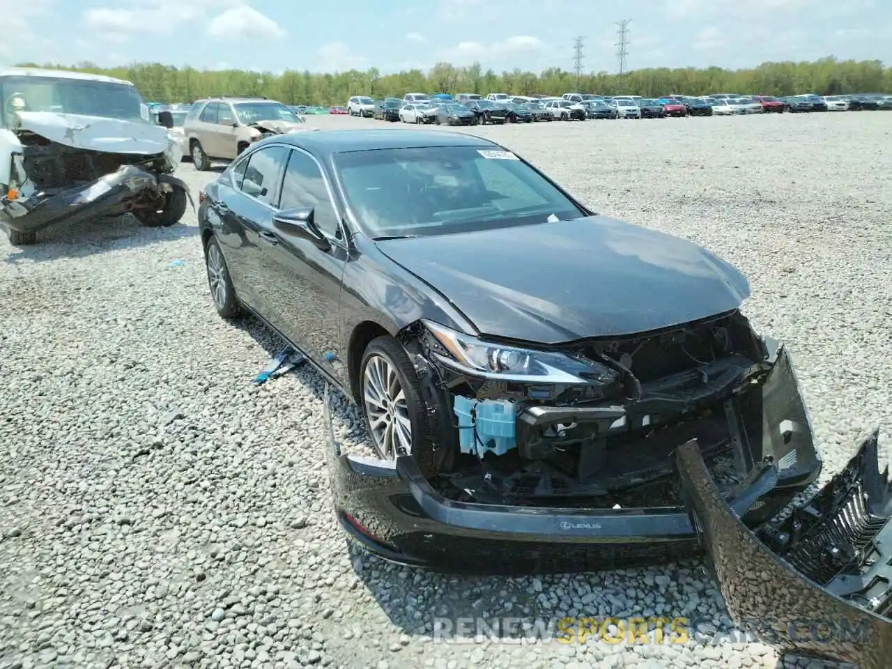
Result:
M376 244L482 334L527 342L675 326L749 296L738 269L696 244L602 216Z

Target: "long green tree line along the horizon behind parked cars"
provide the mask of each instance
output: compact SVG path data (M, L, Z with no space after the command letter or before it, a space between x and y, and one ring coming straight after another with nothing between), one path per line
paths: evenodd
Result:
M26 63L34 66L34 63ZM351 95L384 97L418 91L426 93L508 93L511 95L562 95L570 91L599 95L706 95L731 92L749 95L817 93L880 93L892 91L892 67L880 61L838 61L830 56L814 62L764 62L747 70L719 67L652 68L624 75L593 72L577 82L574 72L550 68L540 74L520 69L497 74L476 62L455 67L438 62L424 72L382 74L377 68L334 74L285 70L194 70L161 63L135 63L101 68L90 62L76 67L44 65L54 69L106 74L132 81L147 101L193 102L209 95L265 95L288 104L344 104Z

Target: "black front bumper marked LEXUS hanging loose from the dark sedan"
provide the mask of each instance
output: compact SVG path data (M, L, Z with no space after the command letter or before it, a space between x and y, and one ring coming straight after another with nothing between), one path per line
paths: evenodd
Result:
M781 353L764 384L764 434L759 440L761 450L784 466L778 470L756 463L733 491L731 506L747 524L770 519L821 470L786 361ZM331 427L327 394L325 410ZM748 434L747 439L757 437ZM400 564L446 572L581 572L686 558L700 550L698 533L682 506L542 508L459 502L435 491L411 458L393 465L343 453L331 429L326 457L339 522L368 550Z

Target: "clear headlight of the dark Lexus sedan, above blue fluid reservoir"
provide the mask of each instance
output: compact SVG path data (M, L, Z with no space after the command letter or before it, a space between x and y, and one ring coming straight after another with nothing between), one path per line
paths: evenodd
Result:
M422 321L442 346L434 351L444 366L469 376L541 384L618 384L613 368L558 351L533 351L500 343L483 342L448 327Z

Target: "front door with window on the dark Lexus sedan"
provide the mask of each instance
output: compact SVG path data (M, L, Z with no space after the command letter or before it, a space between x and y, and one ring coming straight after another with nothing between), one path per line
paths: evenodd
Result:
M317 244L278 227L272 217L263 223L261 244L264 284L275 295L274 325L301 350L317 360L342 383L343 369L325 359L340 348L338 303L347 260L343 212L318 161L301 149L291 149L277 202L278 211L311 207L316 226L329 245ZM271 321L272 322L272 321Z

